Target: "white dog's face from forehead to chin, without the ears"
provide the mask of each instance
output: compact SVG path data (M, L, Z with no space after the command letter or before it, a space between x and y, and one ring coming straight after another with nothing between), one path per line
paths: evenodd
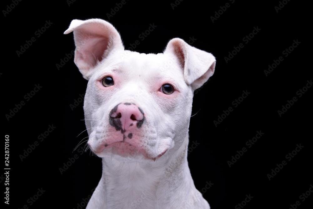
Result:
M182 143L191 115L192 89L173 60L164 54L121 50L97 66L84 102L88 143L95 154L155 160ZM123 120L119 128L112 122L118 118L111 113L117 105L122 116L130 111L126 108L136 108L142 118Z

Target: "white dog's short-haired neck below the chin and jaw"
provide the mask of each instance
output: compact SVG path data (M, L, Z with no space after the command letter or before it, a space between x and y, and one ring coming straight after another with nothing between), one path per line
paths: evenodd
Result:
M162 208L177 202L173 199L177 196L182 199L194 196L192 199L198 199L187 162L187 138L176 152L168 153L156 162L123 163L103 158L103 173L98 185L101 185L102 191L97 192L102 193L100 200L106 199L106 203L103 203L106 206L100 206ZM170 208L176 207L173 205Z

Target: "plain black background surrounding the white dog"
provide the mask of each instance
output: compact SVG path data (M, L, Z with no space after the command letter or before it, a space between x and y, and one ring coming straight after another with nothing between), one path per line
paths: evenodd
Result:
M11 169L10 205L5 204L5 208L24 205L80 208L100 180L100 158L91 156L89 150L81 154L76 149L72 153L87 133L83 132L83 103L75 108L70 105L85 93L87 81L73 58L57 68L61 59L75 48L73 34L63 32L72 19L88 18L102 18L112 23L126 49L139 40L135 51L161 53L172 38L185 41L192 38L193 46L216 57L215 74L194 95L192 114L198 113L190 121L189 145L197 141L198 146L190 147L188 155L195 185L204 192L212 209L234 208L246 195L253 198L244 208L288 209L296 201L300 201L300 209L311 208L313 194L305 201L300 195L313 184L310 144L313 88L308 88L301 97L296 93L312 79L312 67L308 64L312 56L309 3L285 0L286 4L281 4L284 7L278 12L275 7L279 1L177 0L175 7L175 0L167 3L126 1L121 8L116 3L121 1L76 0L70 4L69 1L21 1L17 5L12 1L2 2L1 10L8 12L2 11L1 133L2 137L9 135L8 167ZM226 3L230 6L226 11L221 10ZM108 16L111 12L114 15ZM212 22L215 12L219 12L220 17L216 16ZM35 32L44 27L46 21L52 24L37 37ZM157 27L141 40L138 36L150 24ZM252 33L254 27L258 27L259 32L245 43L243 38ZM17 51L32 37L36 41L18 56ZM283 51L292 46L294 40L300 44L285 57ZM244 48L226 63L224 57L240 43ZM264 70L280 56L284 60L266 76ZM26 101L24 95L38 84L42 86L40 90ZM234 107L233 101L241 97L243 91L248 91L249 96ZM297 101L280 117L278 111L293 97ZM6 115L21 101L25 105L8 120ZM213 121L229 107L233 107L233 111L215 126ZM47 131L49 125L56 128L43 141L38 140L38 135ZM257 131L264 134L248 148L246 142L255 137ZM22 161L20 156L35 141L38 146ZM285 156L295 150L297 144L303 148L288 161ZM4 140L2 146L4 149ZM227 161L243 147L247 151L229 167ZM61 174L59 169L75 154L78 159ZM287 165L269 180L267 175L283 160ZM3 162L4 167L7 166ZM0 182L4 192L3 173L4 170ZM209 189L205 189L207 182L213 183ZM44 193L36 201L30 201L41 188ZM3 197L2 193L2 200Z

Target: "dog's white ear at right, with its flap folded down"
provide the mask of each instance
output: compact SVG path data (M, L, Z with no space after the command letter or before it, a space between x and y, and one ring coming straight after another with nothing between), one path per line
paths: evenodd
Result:
M199 50L187 44L184 40L175 38L168 42L164 54L177 56L184 70L185 81L196 90L214 73L215 57L206 51Z

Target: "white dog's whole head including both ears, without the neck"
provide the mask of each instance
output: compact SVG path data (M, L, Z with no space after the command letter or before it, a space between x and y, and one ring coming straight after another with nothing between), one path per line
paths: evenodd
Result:
M75 64L88 81L88 144L99 157L151 161L187 139L193 91L213 75L213 55L182 39L162 54L124 50L104 20L74 20Z

